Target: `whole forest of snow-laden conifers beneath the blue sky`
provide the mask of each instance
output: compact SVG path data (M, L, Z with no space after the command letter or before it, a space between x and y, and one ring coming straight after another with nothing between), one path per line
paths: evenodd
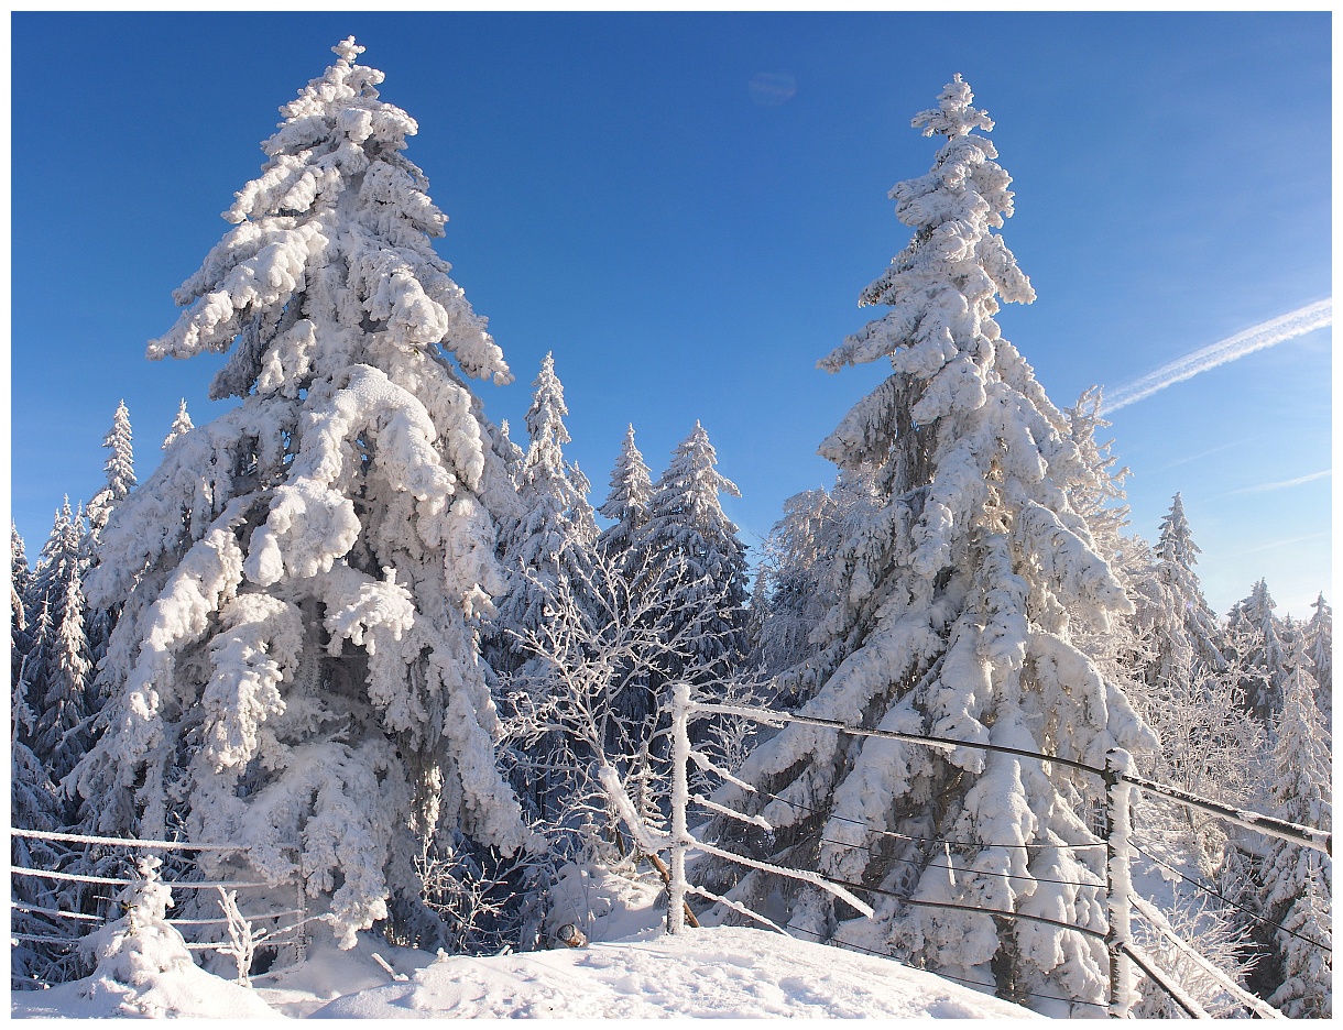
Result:
M509 364L395 75L332 50L148 342L219 359L224 414L118 404L105 485L12 525L15 1014L181 1014L177 976L274 1015L356 955L420 998L638 931L898 964L920 1014L1332 1015L1328 569L1308 615L1272 565L1217 611L1187 491L1133 529L1105 392L1049 397L999 326L1037 295L994 97L948 67L886 126L927 161L815 355L880 375L752 540L702 412L579 469L564 349Z

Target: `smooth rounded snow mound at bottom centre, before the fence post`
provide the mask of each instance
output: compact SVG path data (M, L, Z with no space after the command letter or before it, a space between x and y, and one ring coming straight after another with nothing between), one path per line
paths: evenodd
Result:
M587 948L447 956L317 1018L1038 1018L896 962L740 927Z

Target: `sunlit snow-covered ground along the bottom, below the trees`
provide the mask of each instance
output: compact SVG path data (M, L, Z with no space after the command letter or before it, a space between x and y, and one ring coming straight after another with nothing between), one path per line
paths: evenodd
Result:
M360 935L246 990L199 967L103 975L12 995L16 1018L1038 1018L900 963L736 927L658 929L655 889L573 877L594 943L493 957L434 956ZM611 939L618 935L618 939ZM603 937L606 937L603 940ZM375 952L395 971L381 968ZM128 978L129 979L129 978Z

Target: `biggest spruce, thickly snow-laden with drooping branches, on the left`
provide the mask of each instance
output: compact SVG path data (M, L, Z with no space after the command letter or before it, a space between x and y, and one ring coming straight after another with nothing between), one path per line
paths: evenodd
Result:
M103 536L90 595L129 599L78 788L102 831L247 845L199 859L274 885L244 909L301 889L345 947L389 908L432 944L422 842L528 841L475 628L512 487L457 369L510 375L431 246L446 218L402 156L414 120L353 39L333 50L149 344L231 349L211 396L242 403L181 436Z

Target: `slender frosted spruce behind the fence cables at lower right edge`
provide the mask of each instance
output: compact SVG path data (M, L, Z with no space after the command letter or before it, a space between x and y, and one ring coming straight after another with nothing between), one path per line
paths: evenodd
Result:
M1288 657L1283 710L1273 741L1270 798L1277 815L1332 829L1332 761L1328 731L1315 702L1305 641ZM1273 983L1270 1004L1292 1018L1332 1015L1332 863L1328 855L1289 841L1273 841L1262 866L1260 910L1285 929L1260 928L1266 937ZM1291 931L1291 932L1287 932ZM1304 940L1303 940L1304 939ZM1323 947L1322 947L1323 945Z

